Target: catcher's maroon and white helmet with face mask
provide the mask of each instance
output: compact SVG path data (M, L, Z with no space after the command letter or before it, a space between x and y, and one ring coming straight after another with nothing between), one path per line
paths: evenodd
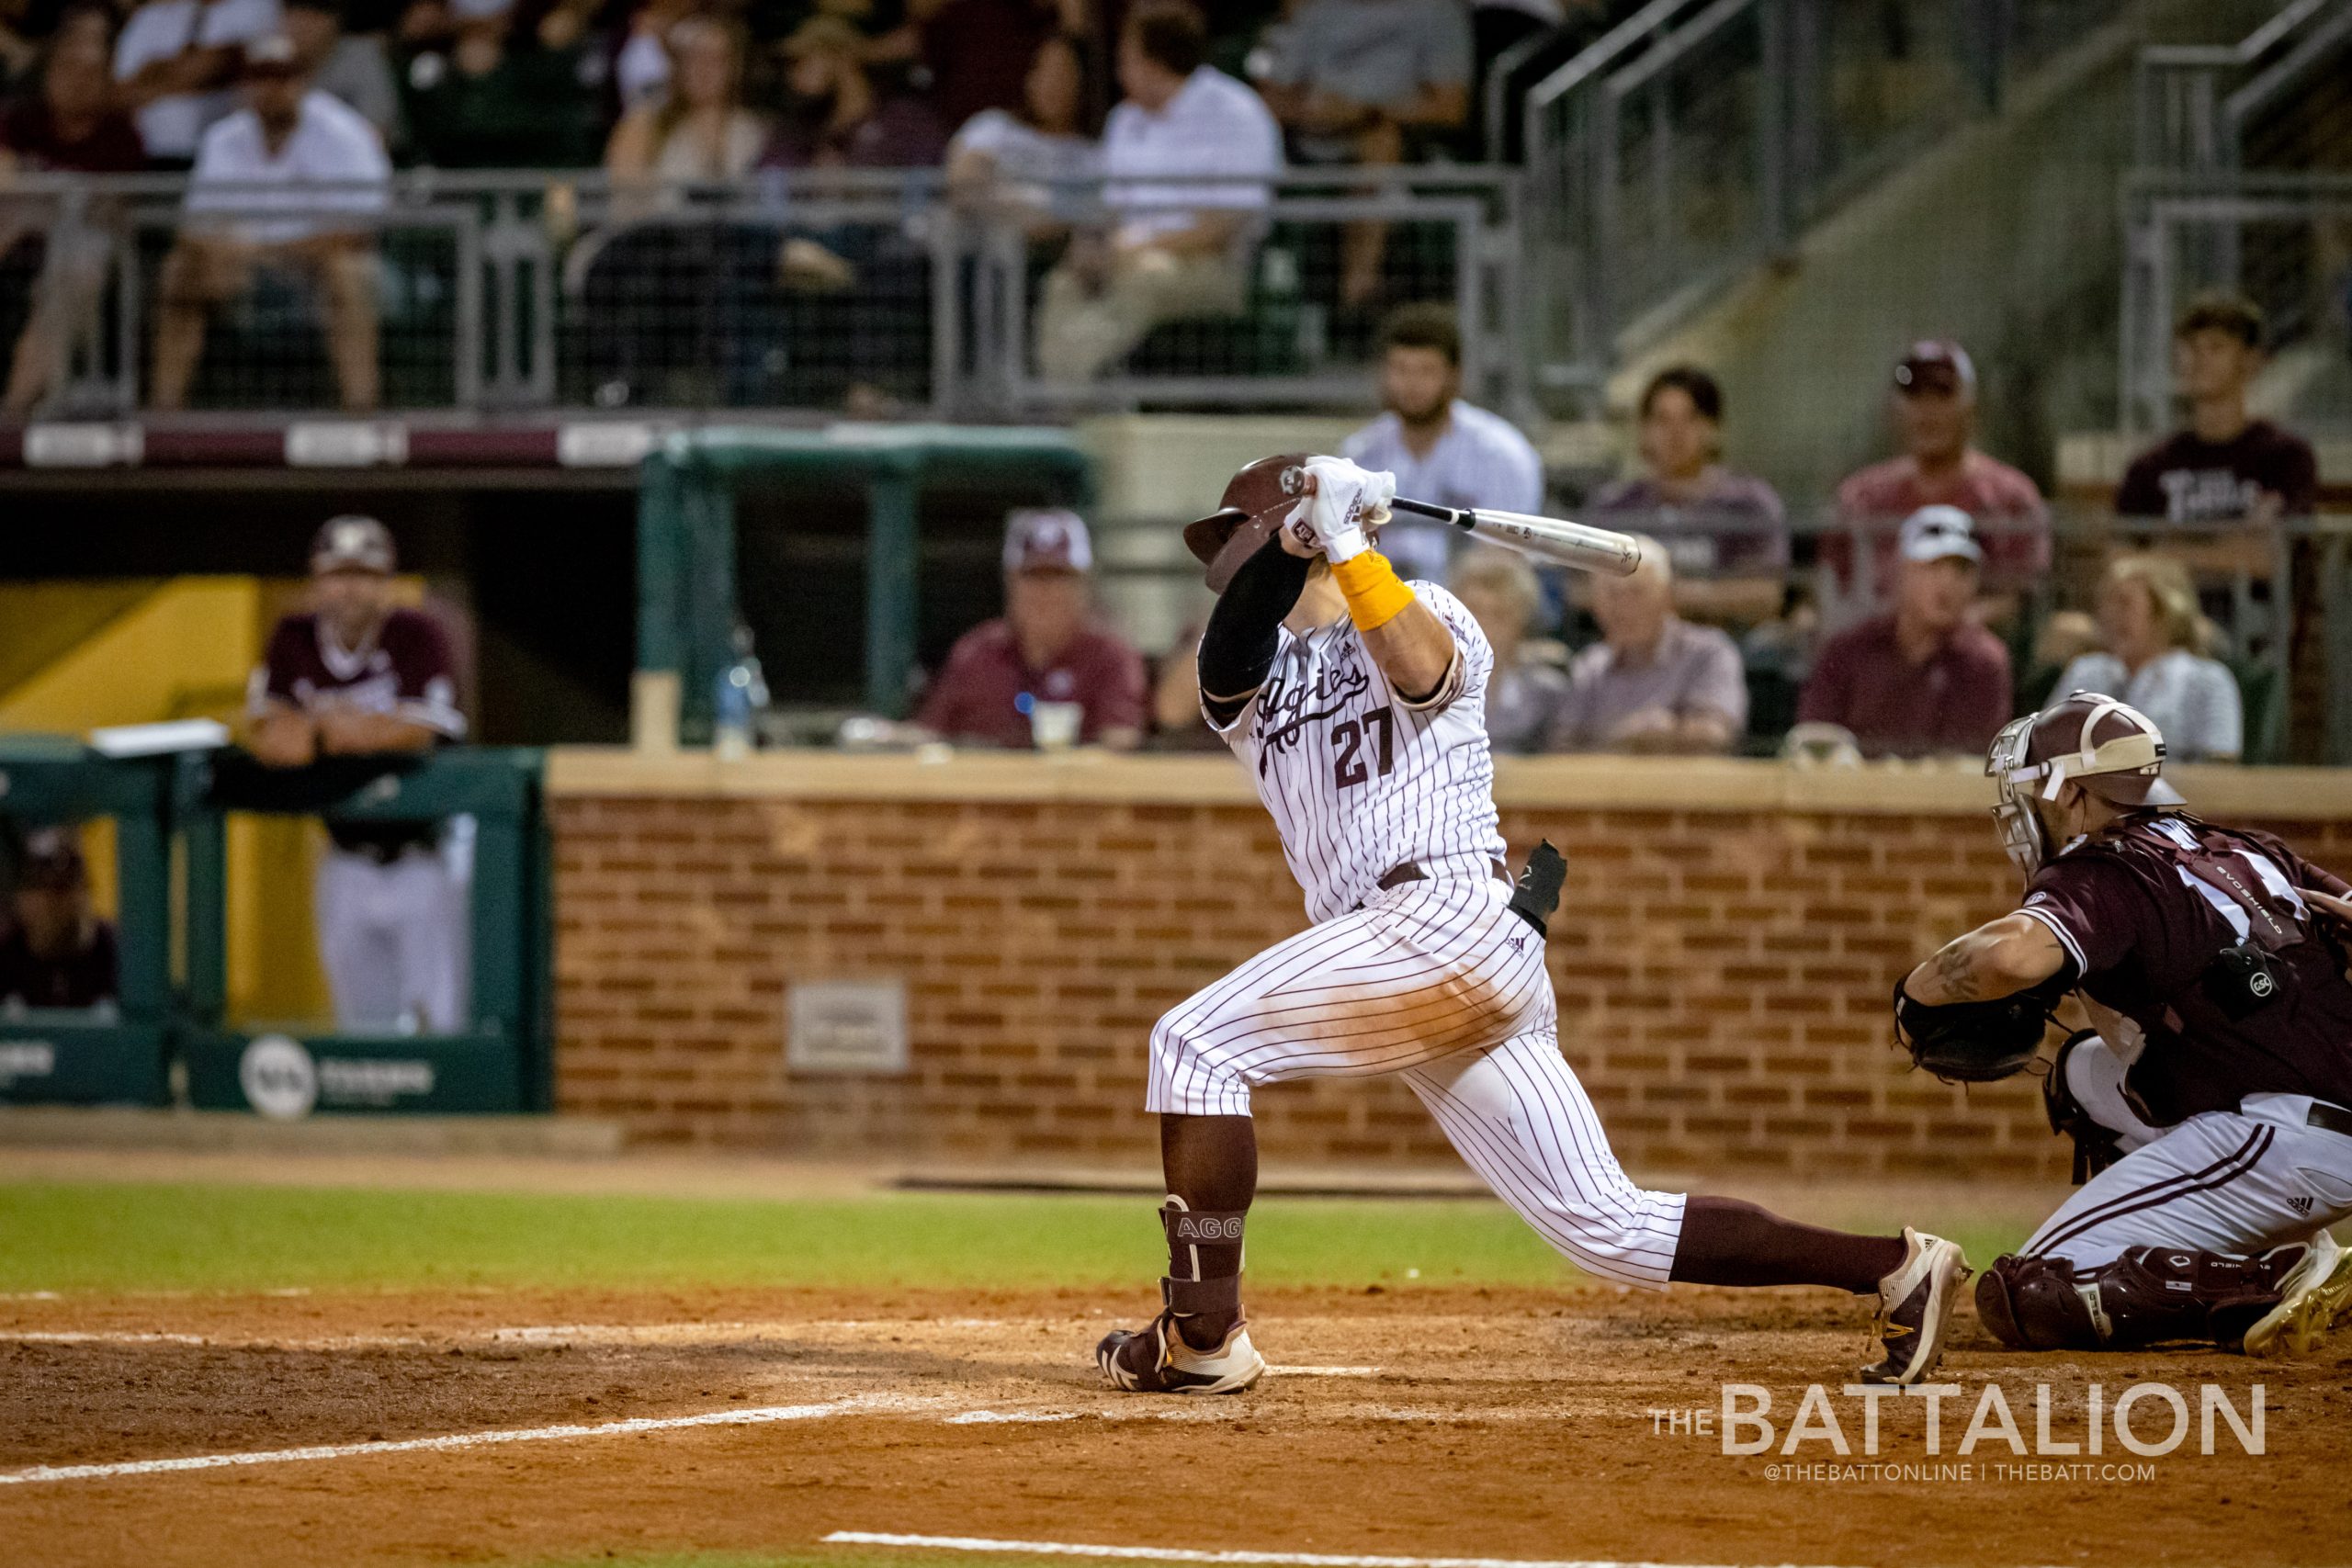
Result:
M2034 811L2037 795L2058 799L2072 783L2126 811L2187 804L2164 780L2164 733L2154 719L2103 691L2070 691L2063 703L2011 719L1985 752L1985 776L2002 795L1992 806L2002 849L2027 877L2056 851Z

